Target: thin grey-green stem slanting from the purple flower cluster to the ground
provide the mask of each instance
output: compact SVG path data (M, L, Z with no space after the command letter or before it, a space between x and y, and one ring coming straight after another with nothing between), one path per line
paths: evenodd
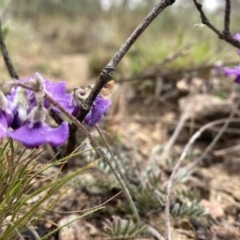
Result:
M141 219L139 217L138 211L136 209L136 206L134 205L134 202L132 200L132 196L130 195L123 179L121 178L120 174L118 173L117 169L114 168L111 161L108 159L105 152L102 150L101 146L98 144L98 142L92 137L91 133L82 125L80 121L78 121L74 116L69 114L58 102L56 102L49 94L45 93L46 99L48 99L55 107L57 107L62 113L64 113L72 122L75 124L75 126L90 140L90 143L93 148L99 153L99 155L102 157L102 159L107 163L107 165L110 167L111 171L115 175L116 179L118 180L119 184L121 185L122 191L125 194L131 208L134 214L134 217L136 218L137 222L140 223Z

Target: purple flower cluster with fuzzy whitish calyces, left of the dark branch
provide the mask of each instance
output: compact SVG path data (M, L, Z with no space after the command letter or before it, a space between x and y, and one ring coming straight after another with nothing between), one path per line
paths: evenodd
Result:
M44 99L44 92L51 95L71 113L75 105L72 103L72 95L66 92L66 83L51 82L38 73L34 77L20 81L32 87L38 86L39 91L34 92L19 86L13 87L7 99L11 103L14 120L11 125L8 125L4 121L4 114L0 115L0 137L9 136L27 148L39 147L46 143L52 146L64 144L69 136L68 123L63 121L57 127L47 124L48 109L52 108L57 114L59 110ZM14 131L9 131L9 126Z

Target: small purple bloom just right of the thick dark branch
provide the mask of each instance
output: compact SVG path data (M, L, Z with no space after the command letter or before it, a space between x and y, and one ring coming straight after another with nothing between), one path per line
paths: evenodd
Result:
M93 103L91 111L84 119L84 123L89 127L93 127L101 120L102 116L107 113L111 104L112 103L109 99L97 96Z

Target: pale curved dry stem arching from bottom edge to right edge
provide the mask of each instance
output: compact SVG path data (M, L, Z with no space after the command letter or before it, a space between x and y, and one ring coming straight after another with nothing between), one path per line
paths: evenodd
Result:
M181 165L181 163L183 162L183 160L185 159L190 147L193 145L193 143L202 135L202 133L213 127L214 125L217 124L221 124L221 123L225 123L226 121L228 121L229 118L225 118L225 119L219 119L213 122L210 122L206 125L204 125L203 127L201 127L196 133L194 133L194 135L190 138L190 140L188 141L188 143L185 145L183 152L180 156L180 158L177 160L176 165L174 166L174 169L172 171L172 174L170 176L170 179L168 181L168 185L167 185L167 195L166 195L166 209L165 209L165 213L166 213L166 229L167 229L167 240L171 240L171 216L170 216L170 195L171 195L171 189L172 189L172 183L174 180L174 177L177 174L177 171ZM240 122L240 119L238 118L232 118L230 120L231 122Z

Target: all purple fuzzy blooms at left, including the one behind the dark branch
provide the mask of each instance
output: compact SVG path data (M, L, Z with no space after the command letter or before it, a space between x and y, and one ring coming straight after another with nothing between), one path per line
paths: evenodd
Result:
M79 101L66 91L66 82L52 82L36 73L33 77L15 81L9 94L0 89L0 138L10 137L21 142L27 148L39 147L43 144L61 146L69 136L69 126L60 111L44 99L45 92L57 101L65 110L76 116L79 111ZM36 89L37 91L33 91ZM95 99L91 111L84 123L93 127L105 115L111 106L111 101L103 95ZM56 124L50 112L58 117Z

